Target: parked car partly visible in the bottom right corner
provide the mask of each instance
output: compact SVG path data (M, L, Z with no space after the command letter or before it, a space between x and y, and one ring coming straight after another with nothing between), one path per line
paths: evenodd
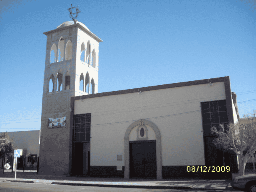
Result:
M256 192L256 174L238 176L232 180L231 186L247 192Z

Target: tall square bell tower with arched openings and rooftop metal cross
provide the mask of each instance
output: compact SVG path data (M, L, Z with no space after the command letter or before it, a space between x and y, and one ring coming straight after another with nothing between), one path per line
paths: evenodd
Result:
M72 16L72 7L68 9ZM77 10L77 16L78 8ZM76 17L77 17L76 16ZM71 97L98 93L98 52L102 42L73 20L44 32L47 36L39 174L69 174Z

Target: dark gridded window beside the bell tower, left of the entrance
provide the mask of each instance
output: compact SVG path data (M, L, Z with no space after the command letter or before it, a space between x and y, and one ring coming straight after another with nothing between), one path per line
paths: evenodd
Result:
M73 118L74 142L90 141L91 114L78 114Z

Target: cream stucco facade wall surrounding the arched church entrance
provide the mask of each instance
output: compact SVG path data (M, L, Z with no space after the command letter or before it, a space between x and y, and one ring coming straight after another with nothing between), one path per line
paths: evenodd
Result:
M116 166L126 129L139 119L158 126L163 166L204 165L200 102L224 99L224 82L218 82L75 100L74 114L92 113L91 166Z

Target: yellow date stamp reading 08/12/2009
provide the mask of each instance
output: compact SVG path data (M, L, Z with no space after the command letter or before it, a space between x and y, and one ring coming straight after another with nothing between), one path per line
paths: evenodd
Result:
M187 172L230 172L229 166L187 166Z

